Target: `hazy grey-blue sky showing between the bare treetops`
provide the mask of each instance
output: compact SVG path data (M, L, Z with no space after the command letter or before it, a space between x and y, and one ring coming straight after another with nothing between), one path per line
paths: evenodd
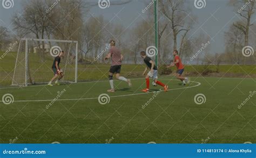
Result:
M94 2L98 3L98 0ZM129 4L115 6L111 5L111 2L109 8L100 9L98 6L95 6L90 9L90 13L93 16L103 15L105 19L112 19L113 22L119 22L125 27L132 27L139 20L146 18L142 10L145 8L147 2L149 3L150 1L134 0ZM211 39L211 47L208 52L224 52L224 31L229 28L234 20L238 19L233 8L227 5L228 0L206 0L205 8L202 9L197 9L194 6L194 0L187 0L186 3L191 6L192 13L198 17L198 23L194 24L191 35L196 36L199 32L203 31ZM10 9L4 9L0 6L0 25L5 26L9 31L12 31L11 17L15 12L22 13L21 0L14 0L14 6ZM200 47L199 45L198 49Z

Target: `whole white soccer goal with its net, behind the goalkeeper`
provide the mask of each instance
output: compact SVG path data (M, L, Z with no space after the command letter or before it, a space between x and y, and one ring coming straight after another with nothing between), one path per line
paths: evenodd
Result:
M50 81L53 60L60 51L64 51L59 64L64 73L63 81L77 83L77 41L26 38L19 42L12 85L28 86Z

